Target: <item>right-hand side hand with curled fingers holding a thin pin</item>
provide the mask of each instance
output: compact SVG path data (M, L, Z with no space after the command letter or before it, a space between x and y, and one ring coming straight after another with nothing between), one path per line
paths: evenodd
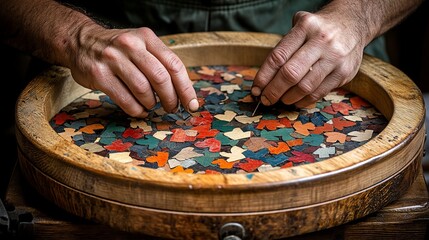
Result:
M297 12L293 28L257 73L252 94L267 106L280 100L305 107L352 80L366 40L353 19L341 14Z

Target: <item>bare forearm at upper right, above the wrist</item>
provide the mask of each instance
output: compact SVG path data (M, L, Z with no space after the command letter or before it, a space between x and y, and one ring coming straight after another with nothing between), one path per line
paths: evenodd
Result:
M320 14L339 14L360 34L365 45L411 14L423 0L333 0ZM350 19L351 21L347 21ZM352 24L355 26L352 26Z

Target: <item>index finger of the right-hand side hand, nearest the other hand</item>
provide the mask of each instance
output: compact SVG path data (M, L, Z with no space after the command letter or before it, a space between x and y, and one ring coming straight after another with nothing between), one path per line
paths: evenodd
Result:
M274 47L257 72L252 85L252 94L260 96L267 84L276 76L279 69L304 44L304 31L292 28Z

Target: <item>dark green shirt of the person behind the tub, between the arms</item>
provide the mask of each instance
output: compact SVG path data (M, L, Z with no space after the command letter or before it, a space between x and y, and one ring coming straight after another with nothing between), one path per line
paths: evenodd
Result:
M78 1L95 18L115 27L149 27L157 35L250 31L284 35L300 10L315 12L327 0L115 0ZM90 2L90 3L85 3ZM82 6L85 4L86 6ZM101 7L101 6L104 7ZM365 52L388 61L384 38Z

